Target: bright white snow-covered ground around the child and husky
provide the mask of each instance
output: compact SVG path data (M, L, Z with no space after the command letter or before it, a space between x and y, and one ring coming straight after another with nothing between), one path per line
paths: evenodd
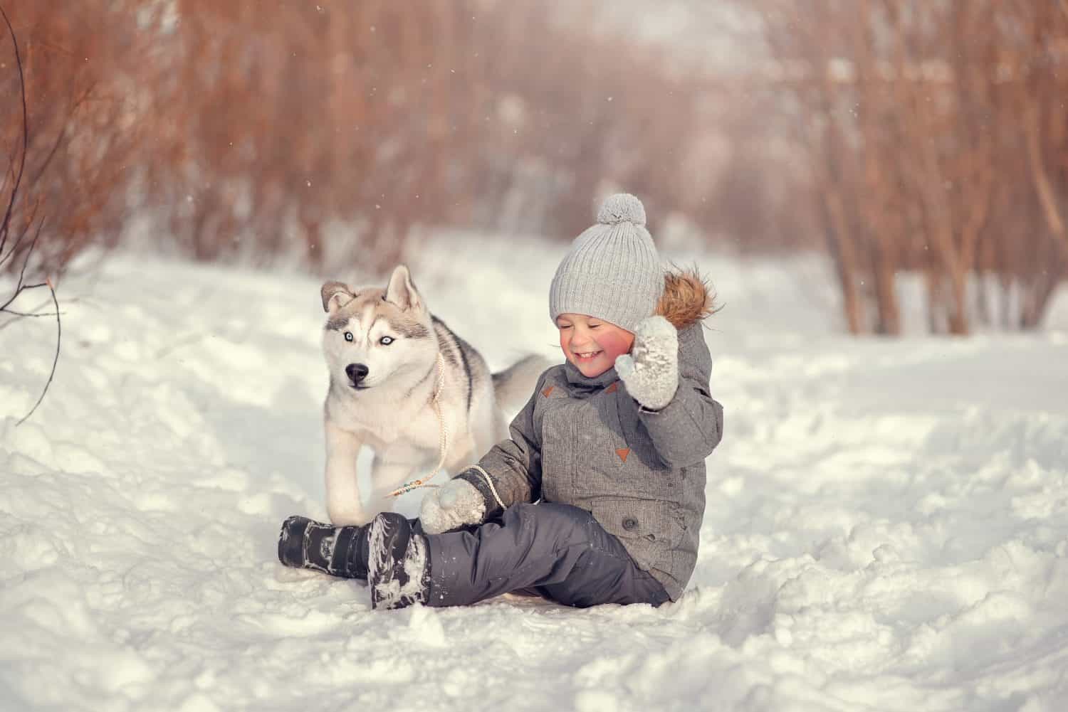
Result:
M500 368L556 354L562 250L468 237L413 273ZM68 279L19 427L54 325L0 317L0 709L1068 709L1068 297L1040 334L849 338L816 262L701 265L726 437L659 610L379 613L280 566L282 519L325 517L315 280Z

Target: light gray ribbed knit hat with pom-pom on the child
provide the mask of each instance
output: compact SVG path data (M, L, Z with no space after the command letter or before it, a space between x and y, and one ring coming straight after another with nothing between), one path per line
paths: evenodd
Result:
M597 224L571 243L549 287L549 317L586 314L634 331L663 291L660 256L645 230L645 208L629 193L609 196Z

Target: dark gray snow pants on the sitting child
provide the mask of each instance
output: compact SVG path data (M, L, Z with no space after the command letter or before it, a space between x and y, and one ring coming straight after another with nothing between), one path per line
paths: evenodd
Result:
M669 600L660 582L579 507L516 504L481 526L424 536L426 605L467 605L507 592L579 607Z

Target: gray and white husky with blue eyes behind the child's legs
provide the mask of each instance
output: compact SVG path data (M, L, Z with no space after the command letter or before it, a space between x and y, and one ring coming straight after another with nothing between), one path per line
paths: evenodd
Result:
M453 474L477 460L506 437L505 410L521 407L551 365L532 355L490 375L482 355L430 314L404 265L384 289L327 282L321 297L327 511L335 525L390 510L391 491L442 459ZM375 454L370 505L357 484L362 445Z

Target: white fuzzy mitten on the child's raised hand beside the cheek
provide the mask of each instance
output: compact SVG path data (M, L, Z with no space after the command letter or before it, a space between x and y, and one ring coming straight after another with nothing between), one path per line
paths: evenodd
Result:
M678 331L662 316L650 316L634 330L630 353L615 359L615 373L627 392L648 410L671 402L678 389Z

